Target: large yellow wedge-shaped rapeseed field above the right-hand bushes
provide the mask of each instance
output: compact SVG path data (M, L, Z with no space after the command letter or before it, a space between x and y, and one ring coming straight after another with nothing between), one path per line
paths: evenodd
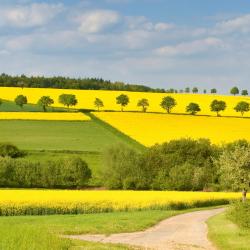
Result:
M94 112L145 146L180 138L209 138L213 143L250 141L250 119L129 112Z

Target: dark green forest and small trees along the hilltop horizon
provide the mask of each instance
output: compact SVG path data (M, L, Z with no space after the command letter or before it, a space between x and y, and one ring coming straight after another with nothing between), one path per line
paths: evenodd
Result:
M27 88L55 88L55 89L82 89L82 90L120 90L132 92L155 92L155 93L211 93L216 94L216 88L199 90L198 87L186 87L185 89L163 89L151 88L139 84L126 84L123 82L111 82L102 78L69 78L69 77L44 77L44 76L11 76L2 73L0 75L0 86L3 87L27 87ZM240 90L238 87L233 87L230 90L233 95L238 95ZM248 95L248 90L241 91L243 96Z

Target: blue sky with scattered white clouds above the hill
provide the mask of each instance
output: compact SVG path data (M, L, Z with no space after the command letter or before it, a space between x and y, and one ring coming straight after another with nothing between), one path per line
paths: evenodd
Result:
M250 89L250 1L0 0L0 72Z

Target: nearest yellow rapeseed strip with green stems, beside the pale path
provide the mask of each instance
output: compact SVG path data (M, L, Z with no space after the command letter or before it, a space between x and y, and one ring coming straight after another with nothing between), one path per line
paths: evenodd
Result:
M0 215L181 209L227 204L237 193L175 191L0 190Z

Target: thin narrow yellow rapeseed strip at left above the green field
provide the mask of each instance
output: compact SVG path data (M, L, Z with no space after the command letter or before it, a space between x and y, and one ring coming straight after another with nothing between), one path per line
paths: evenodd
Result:
M0 112L0 120L89 121L83 113Z

